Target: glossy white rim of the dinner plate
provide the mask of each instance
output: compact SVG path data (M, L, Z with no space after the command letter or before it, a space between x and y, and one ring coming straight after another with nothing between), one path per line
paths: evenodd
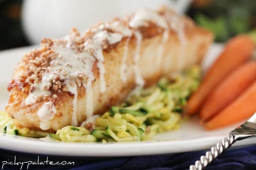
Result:
M213 44L213 47L223 46ZM34 49L38 45L21 47L17 49L4 50L0 52L0 60L8 53L24 53ZM0 133L0 148L10 151L25 152L31 154L48 154L58 156L89 156L89 157L118 157L118 156L142 156L158 154L174 154L206 150L217 142L221 141L222 135L204 136L196 139L166 140L166 141L142 141L142 142L117 142L117 143L65 143L46 142L41 139L34 139L22 136ZM13 140L17 139L17 140ZM256 141L246 139L235 143L236 146L247 146L256 144ZM27 147L29 146L29 147ZM175 147L173 147L175 146ZM178 146L178 147L177 147ZM149 149L150 148L150 149ZM99 150L99 151L98 151Z

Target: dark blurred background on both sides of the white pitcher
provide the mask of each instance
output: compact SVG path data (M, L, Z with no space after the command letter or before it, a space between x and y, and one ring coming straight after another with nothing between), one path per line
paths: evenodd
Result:
M149 0L150 2L150 0ZM29 45L21 26L22 0L0 0L0 50ZM194 0L187 11L215 41L256 29L256 0Z

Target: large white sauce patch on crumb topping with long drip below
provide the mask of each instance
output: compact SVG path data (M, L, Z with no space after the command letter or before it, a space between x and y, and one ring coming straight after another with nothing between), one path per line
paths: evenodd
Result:
M93 77L92 66L95 61L94 57L91 57L88 52L77 53L72 48L61 48L61 47L54 47L54 50L60 54L59 57L56 58L56 65L52 67L49 73L44 74L42 79L42 84L49 83L50 81L44 81L44 77L51 77L51 75L59 75L63 77L61 72L58 72L58 69L63 69L68 74L63 77L65 84L67 84L68 91L74 94L74 99L72 102L73 111L72 111L72 121L71 124L73 126L77 126L77 85L75 83L75 79L79 74L85 74L88 77ZM74 54L77 54L74 56ZM94 78L94 77L93 77ZM91 91L91 90L90 90ZM91 100L92 102L92 100ZM91 106L86 106L86 108L91 108ZM93 111L92 111L93 112ZM88 113L89 114L89 113Z

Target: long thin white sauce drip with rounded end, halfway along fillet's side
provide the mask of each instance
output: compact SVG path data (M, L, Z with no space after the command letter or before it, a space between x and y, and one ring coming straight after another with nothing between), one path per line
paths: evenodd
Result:
M139 69L139 59L140 59L140 50L141 50L141 42L142 42L142 34L139 31L136 31L134 33L137 41L136 41L136 49L135 49L135 55L133 58L134 61L134 72L135 72L135 82L138 86L143 86L145 81L141 75L140 69Z

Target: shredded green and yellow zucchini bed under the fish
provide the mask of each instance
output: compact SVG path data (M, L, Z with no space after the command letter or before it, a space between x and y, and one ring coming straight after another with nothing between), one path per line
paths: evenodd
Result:
M200 82L199 66L182 71L172 80L162 78L157 85L133 91L119 106L95 119L90 131L66 126L56 133L20 128L7 113L0 112L0 131L26 137L50 136L65 142L114 142L150 140L157 133L179 128L182 109Z

